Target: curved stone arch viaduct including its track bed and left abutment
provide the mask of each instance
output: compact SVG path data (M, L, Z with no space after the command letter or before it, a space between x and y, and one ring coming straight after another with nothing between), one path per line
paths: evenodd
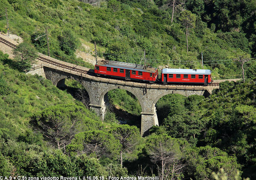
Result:
M18 43L0 35L0 49L10 48L5 53L11 52L16 48ZM5 47L5 48L2 48ZM10 57L12 54L9 53ZM37 65L31 69L29 74L39 74L50 79L56 86L65 86L65 79L75 79L79 81L89 94L90 108L103 119L105 112L104 96L112 89L125 89L130 91L141 104L141 135L147 134L149 128L158 125L155 104L167 94L182 94L189 96L192 94L204 95L212 93L213 89L219 86L185 86L185 85L163 85L163 84L146 84L133 81L123 81L118 79L108 79L90 75L89 68L78 66L72 63L45 56L38 53Z

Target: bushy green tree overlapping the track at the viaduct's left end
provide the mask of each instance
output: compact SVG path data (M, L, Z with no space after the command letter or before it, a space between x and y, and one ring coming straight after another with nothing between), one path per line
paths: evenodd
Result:
M16 67L22 72L29 71L31 64L35 62L38 56L35 48L27 42L20 43L16 49L13 49L13 55Z

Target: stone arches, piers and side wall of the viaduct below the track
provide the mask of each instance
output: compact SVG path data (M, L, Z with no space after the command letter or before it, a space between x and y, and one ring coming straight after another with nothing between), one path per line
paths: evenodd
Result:
M73 74L72 72L58 70L53 67L43 66L45 77L52 81L55 86L65 86L65 79L75 79L79 81L89 94L90 108L102 118L104 118L105 101L104 96L112 89L125 89L131 92L138 99L141 105L141 136L144 136L153 125L159 125L155 104L167 94L182 94L190 96L192 94L207 96L211 91L207 86L181 86L181 85L159 85L145 84L116 79L107 79L83 74Z

